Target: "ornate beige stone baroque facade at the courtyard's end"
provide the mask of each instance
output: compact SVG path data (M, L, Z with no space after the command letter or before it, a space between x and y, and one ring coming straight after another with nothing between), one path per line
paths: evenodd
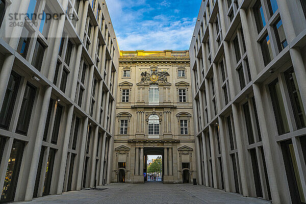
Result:
M144 183L147 155L163 182L196 177L189 51L120 52L112 182Z

